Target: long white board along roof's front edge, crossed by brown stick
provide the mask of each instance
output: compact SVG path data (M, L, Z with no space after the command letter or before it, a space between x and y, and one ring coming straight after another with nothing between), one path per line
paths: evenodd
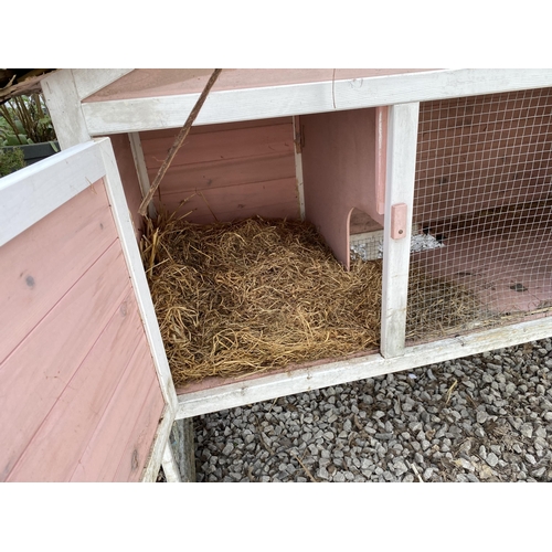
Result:
M359 109L552 86L552 70L438 70L212 92L194 125ZM199 94L82 105L93 136L181 127Z

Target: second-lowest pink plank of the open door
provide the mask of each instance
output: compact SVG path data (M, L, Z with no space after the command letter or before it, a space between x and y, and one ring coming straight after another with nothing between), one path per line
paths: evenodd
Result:
M146 400L157 401L159 389L156 373L151 370L151 355L146 341L141 340L128 363L119 385L112 396L104 416L71 476L72 481L109 481L117 471L126 452L127 439L136 429L136 421ZM106 450L109 454L106 454ZM130 455L132 452L130 453ZM145 456L144 454L141 455ZM144 459L144 458L142 458ZM131 463L128 475L132 471ZM144 466L139 465L141 469Z

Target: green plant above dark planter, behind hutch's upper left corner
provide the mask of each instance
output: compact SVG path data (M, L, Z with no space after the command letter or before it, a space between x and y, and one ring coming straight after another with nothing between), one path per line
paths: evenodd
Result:
M55 130L42 94L17 96L0 105L0 146L55 139Z

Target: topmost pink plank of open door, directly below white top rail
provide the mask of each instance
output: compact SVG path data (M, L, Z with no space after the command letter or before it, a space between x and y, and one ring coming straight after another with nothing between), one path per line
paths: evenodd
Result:
M98 181L0 248L0 362L116 237Z

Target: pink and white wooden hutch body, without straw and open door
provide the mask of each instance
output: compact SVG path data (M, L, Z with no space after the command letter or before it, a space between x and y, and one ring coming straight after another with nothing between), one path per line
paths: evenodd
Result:
M211 73L43 81L63 149L110 138L138 240L142 197ZM305 219L346 269L351 252L381 258L380 339L255 375L177 389L166 378L172 417L551 336L551 70L224 70L150 213ZM408 290L414 278L424 293ZM144 282L140 294L162 358Z

